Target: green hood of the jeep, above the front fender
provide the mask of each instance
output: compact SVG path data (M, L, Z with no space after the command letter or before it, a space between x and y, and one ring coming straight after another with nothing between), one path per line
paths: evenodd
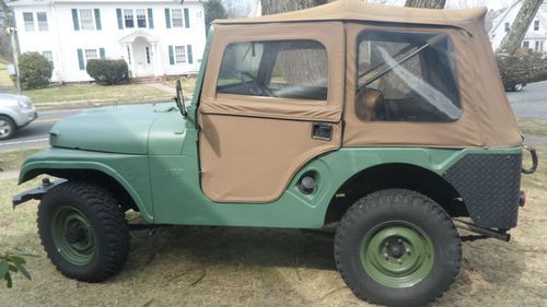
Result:
M172 104L112 106L88 110L54 126L50 144L56 147L124 154L148 154L149 134L162 117L175 117ZM184 128L184 120L176 122ZM164 127L174 129L174 127Z

